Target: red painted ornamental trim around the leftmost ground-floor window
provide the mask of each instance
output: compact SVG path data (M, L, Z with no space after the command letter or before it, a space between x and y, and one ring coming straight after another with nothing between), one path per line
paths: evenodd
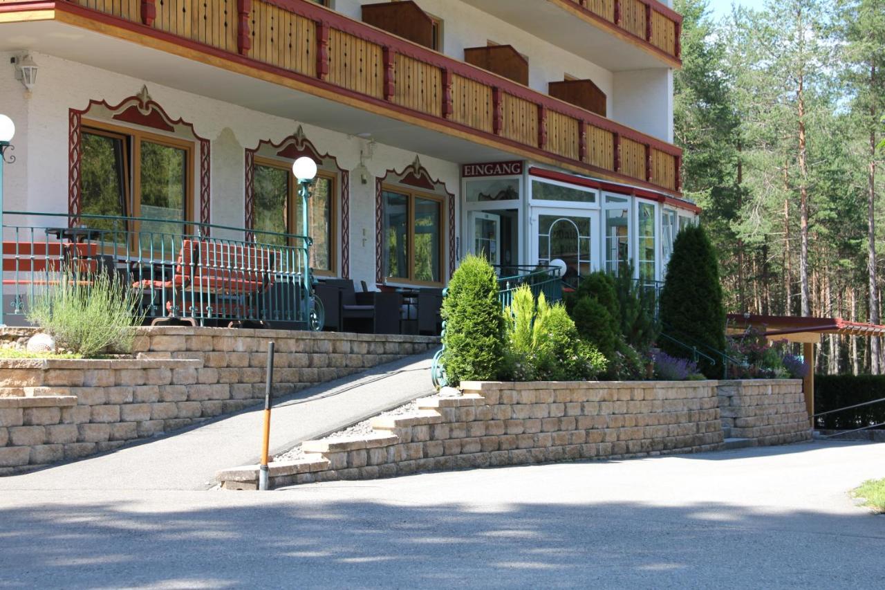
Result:
M100 117L95 117L96 113L92 112L95 107L104 108L106 113L101 113ZM89 105L85 109L69 109L68 110L68 226L75 227L80 225L80 215L82 213L82 189L81 189L81 162L83 157L82 145L82 128L84 116L96 118L98 120L107 120L108 123L115 125L137 125L142 128L152 129L169 134L173 138L180 136L183 130L187 130L192 136L195 148L199 145L199 204L191 203L188 210L199 210L201 223L212 222L212 184L211 184L211 143L203 136L199 136L192 123L182 119L173 119L170 117L162 106L154 102L148 94L148 87L142 86L142 91L133 97L124 98L118 105L109 105L104 100L90 100ZM196 160L196 158L195 158ZM192 171L196 175L196 171ZM204 228L204 234L209 233L209 228Z

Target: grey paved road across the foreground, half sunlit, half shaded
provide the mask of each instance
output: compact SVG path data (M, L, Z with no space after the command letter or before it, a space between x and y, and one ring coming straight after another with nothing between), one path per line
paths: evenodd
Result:
M885 587L846 491L885 444L424 474L274 492L0 493L9 587Z

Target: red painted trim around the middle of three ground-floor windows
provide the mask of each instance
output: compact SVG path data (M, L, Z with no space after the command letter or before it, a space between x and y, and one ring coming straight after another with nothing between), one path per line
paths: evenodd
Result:
M334 207L334 213L340 212L338 218L338 227L341 228L341 256L335 256L336 260L341 260L341 276L342 278L350 278L350 172L345 170L338 164L338 159L328 153L320 154L316 146L311 140L304 136L304 128L298 126L295 135L286 137L280 143L274 144L270 140L261 140L255 148L246 149L245 153L245 227L246 229L255 229L255 156L260 155L258 151L262 147L267 147L275 151L277 158L295 160L301 156L307 156L317 162L317 167L326 169L333 174L338 175L340 182L339 200L340 206ZM325 160L331 160L335 166L335 170L330 167L323 167ZM338 188L336 183L335 188ZM247 231L246 239L252 239L254 236ZM338 238L336 237L336 240ZM337 245L336 245L337 246Z

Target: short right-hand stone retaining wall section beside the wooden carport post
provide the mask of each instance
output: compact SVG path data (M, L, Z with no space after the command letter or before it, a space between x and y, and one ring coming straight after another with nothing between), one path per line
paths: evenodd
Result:
M758 446L812 439L801 380L720 381L718 390L727 437Z

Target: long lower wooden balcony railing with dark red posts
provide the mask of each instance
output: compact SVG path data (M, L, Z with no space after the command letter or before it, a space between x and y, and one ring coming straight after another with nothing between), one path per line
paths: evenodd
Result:
M198 43L237 53L346 89L366 103L468 131L478 142L512 145L591 174L681 190L676 146L317 4L67 0L56 5L68 2L165 31L192 47Z

